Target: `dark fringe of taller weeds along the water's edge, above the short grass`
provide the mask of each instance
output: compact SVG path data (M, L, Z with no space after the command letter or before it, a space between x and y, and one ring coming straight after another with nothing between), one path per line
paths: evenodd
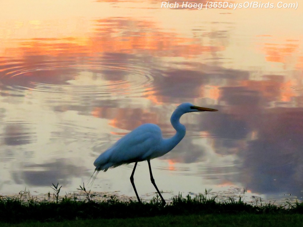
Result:
M207 214L303 214L303 202L286 205L246 203L239 198L229 198L219 201L216 196L209 196L208 191L194 197L190 195L174 196L171 202L163 204L160 196L150 202L139 203L120 201L115 195L104 196L99 200L92 200L95 194L80 186L78 189L85 199L78 198L77 193L66 193L59 197L62 186L53 184L53 199L40 201L31 196L29 190L19 192L16 197L0 197L0 222L28 221L63 221L76 219L112 219L112 218L138 218L158 215L207 215ZM26 198L25 199L25 195ZM50 193L46 194L48 198ZM83 198L83 196L82 196Z

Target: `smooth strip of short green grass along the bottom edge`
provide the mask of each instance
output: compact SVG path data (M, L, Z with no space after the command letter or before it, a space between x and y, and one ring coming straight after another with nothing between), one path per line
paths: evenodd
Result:
M302 226L303 215L299 214L282 214L282 215L227 215L227 214L205 214L205 215L162 215L156 217L128 218L128 219L78 219L73 221L62 222L24 222L20 224L2 223L2 227L40 227L40 226L123 226L123 227L155 227L155 226L251 226L251 227L296 227Z

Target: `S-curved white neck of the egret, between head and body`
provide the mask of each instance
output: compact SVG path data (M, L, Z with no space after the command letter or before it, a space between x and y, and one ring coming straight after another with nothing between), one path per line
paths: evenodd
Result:
M168 139L164 139L164 147L165 153L173 149L185 136L185 126L180 123L180 117L184 113L180 113L180 111L175 110L174 113L171 115L171 125L177 131L176 134Z

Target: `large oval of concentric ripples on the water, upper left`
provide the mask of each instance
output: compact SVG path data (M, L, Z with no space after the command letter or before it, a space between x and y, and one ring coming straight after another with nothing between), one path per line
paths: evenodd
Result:
M142 94L151 87L153 77L148 69L124 63L94 63L71 65L70 62L48 62L33 67L22 63L4 66L0 81L3 90L16 95L24 90L109 96Z

